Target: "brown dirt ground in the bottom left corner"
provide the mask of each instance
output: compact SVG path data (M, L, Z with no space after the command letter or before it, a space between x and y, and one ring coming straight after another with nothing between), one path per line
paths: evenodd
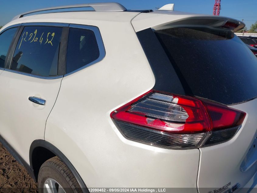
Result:
M36 193L37 184L0 143L0 193Z

